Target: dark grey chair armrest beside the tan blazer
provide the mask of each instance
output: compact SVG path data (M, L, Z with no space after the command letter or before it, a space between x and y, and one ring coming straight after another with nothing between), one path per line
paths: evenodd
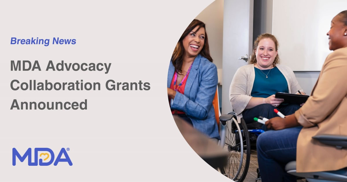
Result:
M316 135L313 139L327 145L333 145L338 149L347 148L347 135Z

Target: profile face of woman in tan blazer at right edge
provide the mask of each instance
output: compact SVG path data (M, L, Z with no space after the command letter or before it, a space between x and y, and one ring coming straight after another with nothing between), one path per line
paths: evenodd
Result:
M329 36L329 49L336 50L344 47L343 39L344 34L347 33L347 26L340 21L340 15L336 15L332 18L331 27L327 35Z

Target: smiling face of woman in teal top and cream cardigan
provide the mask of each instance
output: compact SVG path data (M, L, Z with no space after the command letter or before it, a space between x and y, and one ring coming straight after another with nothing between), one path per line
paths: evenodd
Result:
M264 38L259 41L255 50L255 56L259 69L271 69L272 63L277 56L275 42L270 38Z

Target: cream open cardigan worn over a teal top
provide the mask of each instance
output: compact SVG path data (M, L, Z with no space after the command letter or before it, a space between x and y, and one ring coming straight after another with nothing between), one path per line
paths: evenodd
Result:
M289 93L303 92L298 81L295 78L294 72L284 65L277 64L276 67L287 80ZM255 72L254 64L248 64L237 69L234 78L231 81L229 89L229 100L232 109L237 115L237 121L240 122L242 112L245 110L249 100L251 100L251 92L253 88Z

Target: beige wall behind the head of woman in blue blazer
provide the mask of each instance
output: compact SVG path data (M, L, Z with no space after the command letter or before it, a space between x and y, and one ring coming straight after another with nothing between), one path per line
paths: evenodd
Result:
M223 0L215 0L196 17L206 24L210 54L218 69L222 68L223 6Z

